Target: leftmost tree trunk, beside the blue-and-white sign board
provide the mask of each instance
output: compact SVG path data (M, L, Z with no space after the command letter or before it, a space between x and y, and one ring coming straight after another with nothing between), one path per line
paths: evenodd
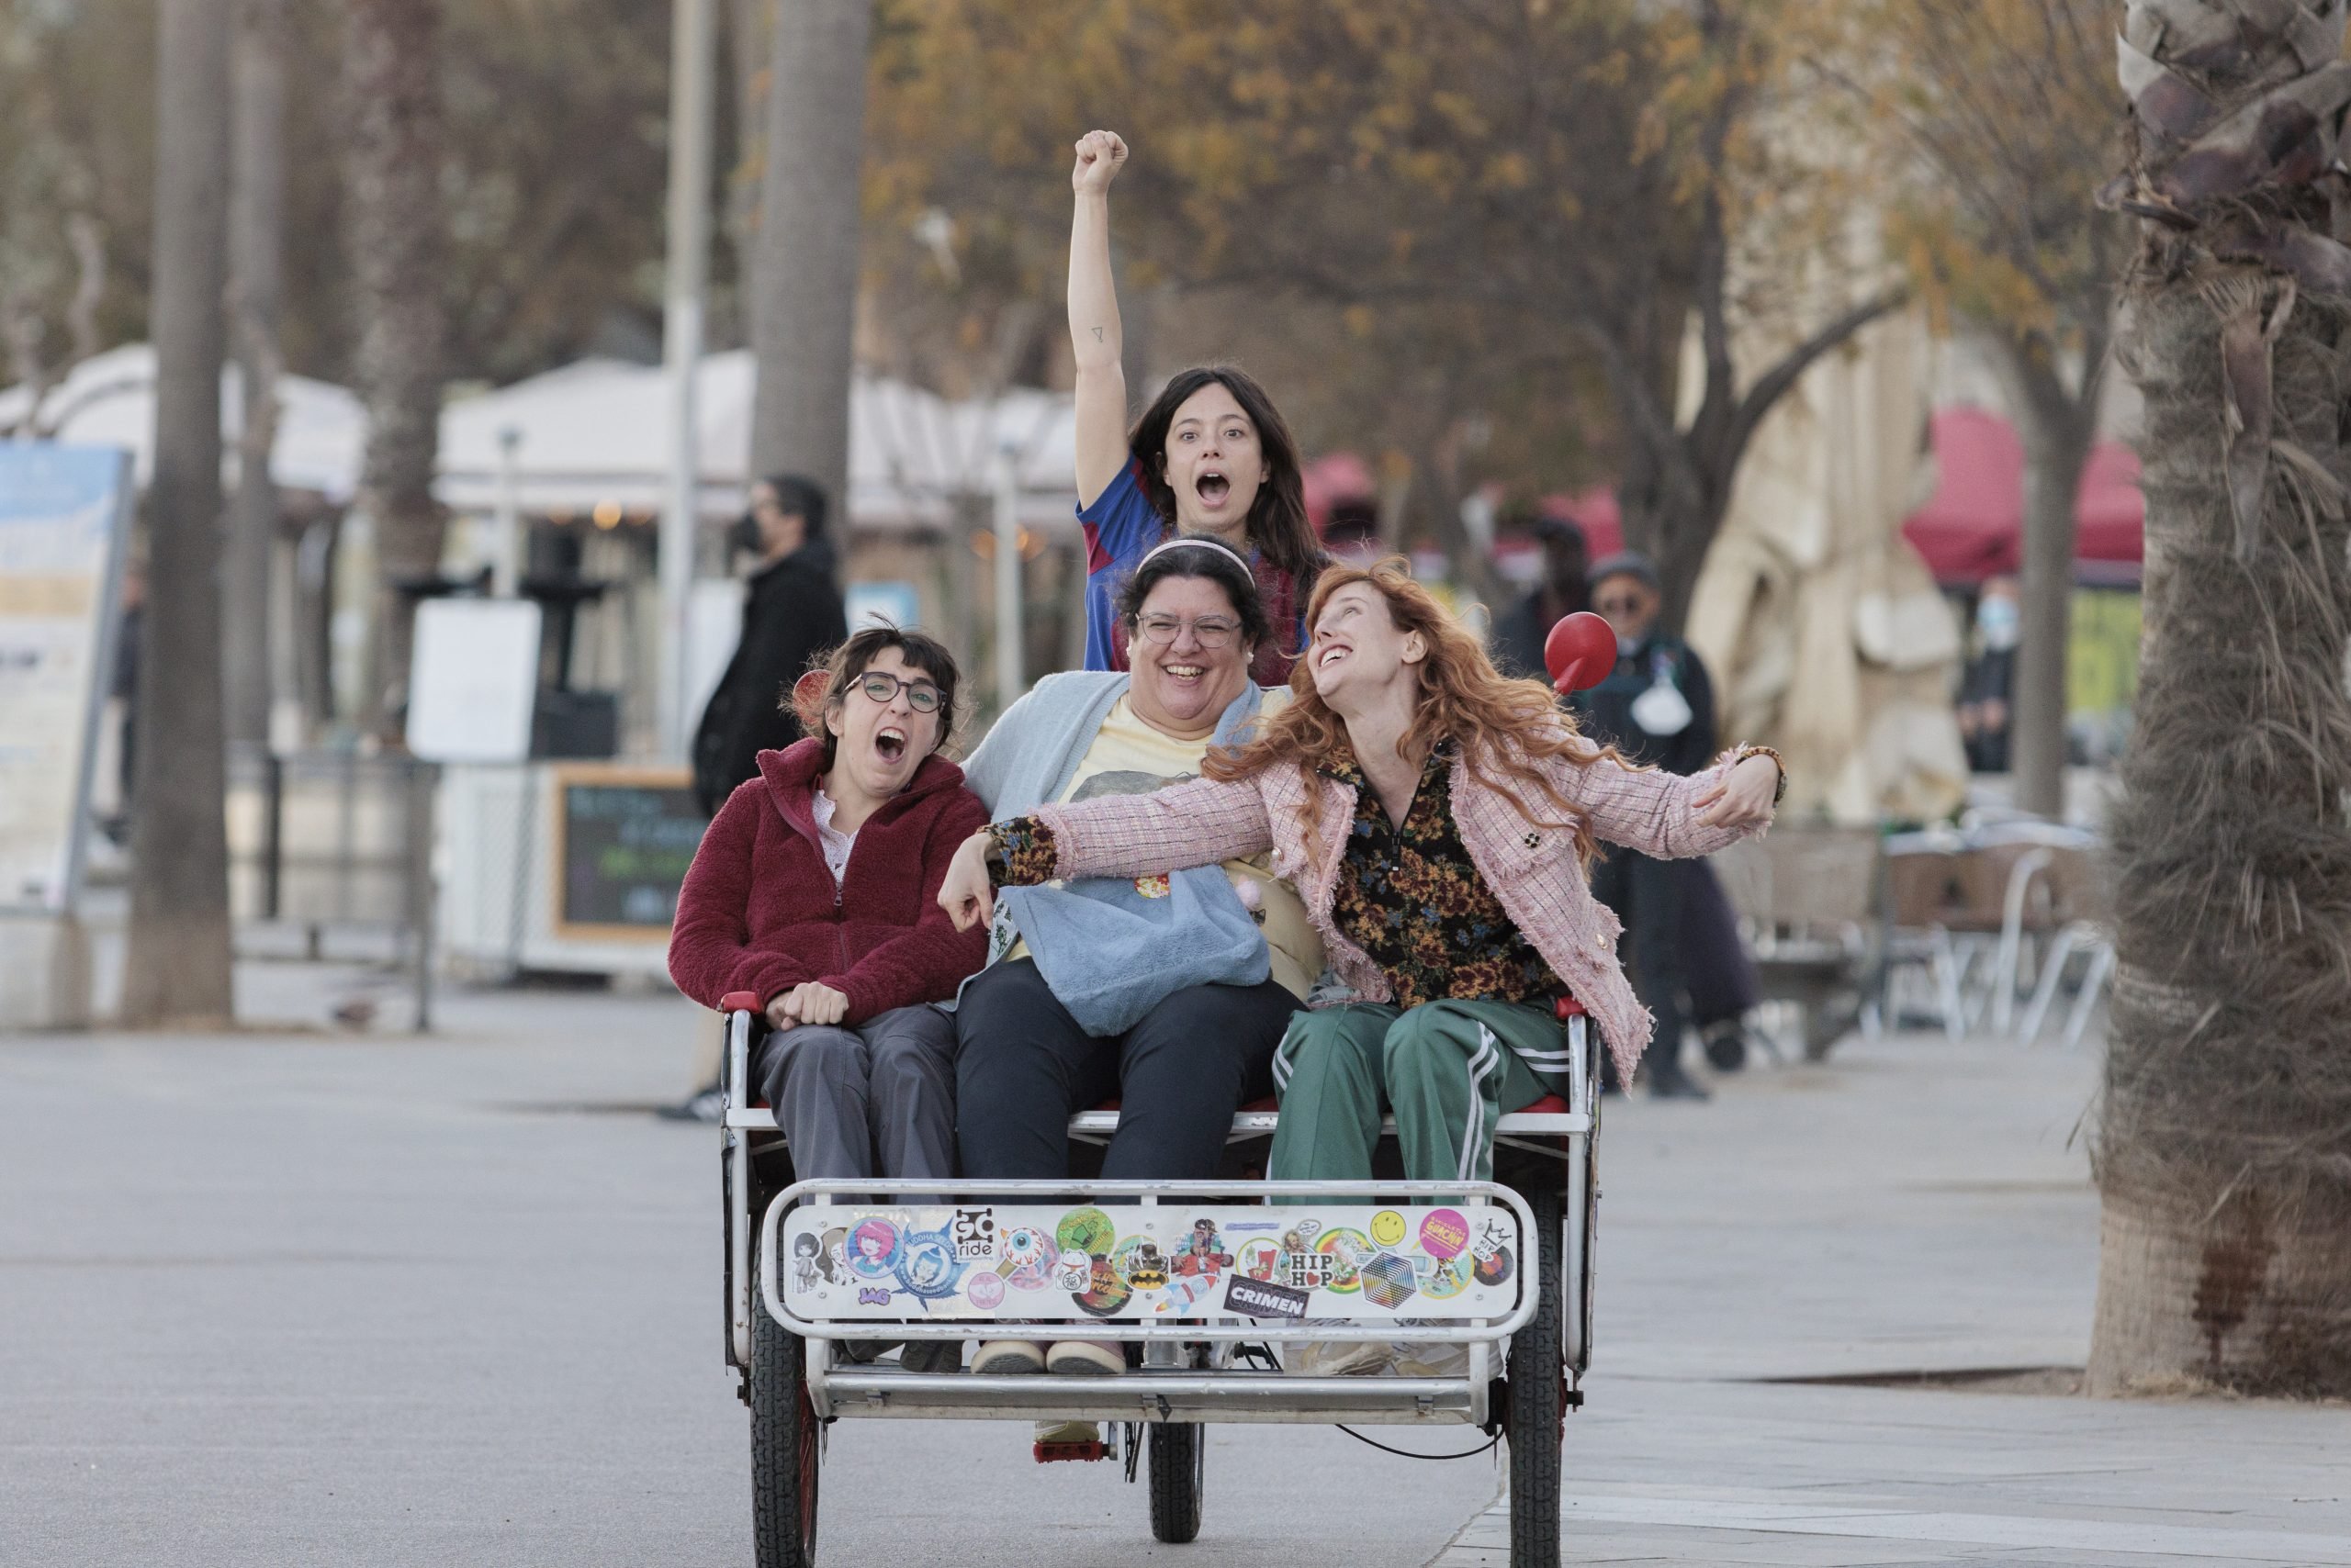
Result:
M221 748L221 289L230 0L162 0L155 68L155 475L132 776L129 1025L233 1006Z

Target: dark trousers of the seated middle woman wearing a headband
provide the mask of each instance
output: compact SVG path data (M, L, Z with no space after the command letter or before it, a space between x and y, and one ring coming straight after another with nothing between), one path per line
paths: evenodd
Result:
M1211 1178L1232 1112L1274 1091L1272 1058L1298 997L1192 985L1124 1034L1096 1039L1030 959L997 964L955 1006L955 1140L964 1175L1063 1178L1070 1114L1119 1100L1107 1180Z

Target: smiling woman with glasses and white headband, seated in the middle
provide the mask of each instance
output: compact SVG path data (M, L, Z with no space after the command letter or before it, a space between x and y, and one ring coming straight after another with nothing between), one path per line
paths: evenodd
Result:
M990 813L1197 778L1211 745L1288 701L1248 679L1265 607L1223 541L1145 552L1117 611L1126 672L1044 677L971 755ZM1121 1117L1105 1178L1215 1175L1232 1112L1272 1093L1274 1044L1324 969L1291 884L1265 856L1237 856L1166 877L1027 886L994 912L992 961L955 1011L964 1175L1070 1175L1070 1112L1112 1095ZM1049 1363L1126 1366L1110 1342L1002 1340L980 1347L976 1371Z

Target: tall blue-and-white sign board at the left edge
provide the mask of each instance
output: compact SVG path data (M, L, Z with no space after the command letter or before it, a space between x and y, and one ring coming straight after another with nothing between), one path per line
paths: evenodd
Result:
M0 910L73 907L129 454L0 442Z

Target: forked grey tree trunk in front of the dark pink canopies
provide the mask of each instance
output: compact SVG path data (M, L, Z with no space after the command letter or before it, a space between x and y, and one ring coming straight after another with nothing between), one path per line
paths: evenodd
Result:
M2076 395L2045 339L1991 336L1994 362L2024 440L2024 538L2017 578L2017 682L2010 691L2015 802L2064 816L2067 668L2074 625L2074 517L2081 470L2097 435L2099 367Z

